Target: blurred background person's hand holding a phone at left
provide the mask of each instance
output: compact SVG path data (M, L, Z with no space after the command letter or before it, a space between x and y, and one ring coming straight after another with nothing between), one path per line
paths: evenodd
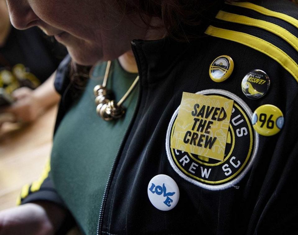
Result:
M21 87L12 92L11 95L16 101L10 106L2 109L0 112L13 115L15 120L12 122L32 122L42 113L43 108L40 101L34 95L34 91L30 88Z

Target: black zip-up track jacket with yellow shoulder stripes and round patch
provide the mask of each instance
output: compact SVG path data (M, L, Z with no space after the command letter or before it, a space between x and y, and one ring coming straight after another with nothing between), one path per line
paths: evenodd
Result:
M298 203L294 193L298 185L298 8L289 1L246 4L227 4L222 10L273 23L281 31L275 31L271 24L263 25L261 21L254 25L250 19L248 24L242 20L229 22L239 20L234 16L212 21L206 36L190 43L168 38L132 42L140 71L138 107L111 169L99 212L98 233L298 233ZM281 12L291 17L284 17ZM235 68L230 78L217 83L209 77L209 65L221 55L231 56ZM247 98L241 90L243 77L253 69L265 71L271 80L266 96L257 100ZM56 126L71 106L66 89L68 84L69 81L64 79L58 87L63 95ZM168 128L171 129L171 118L180 105L182 92L200 91L234 99L240 107L236 109L234 106L234 114L239 112L249 121L251 111L263 104L279 107L285 118L282 130L270 137L257 134L245 119L244 123L251 131L246 139L235 137L230 156L240 157L243 168L234 177L235 181L215 190L207 186L211 183L202 183L181 170L182 173L178 173L179 163L171 159L179 159L181 152L172 156L175 153L171 152L166 139L170 138ZM236 125L234 129L235 132ZM214 168L211 181L222 179L221 168ZM172 210L160 211L148 199L148 183L158 174L172 177L179 186L180 199ZM52 200L48 195L55 193L50 180L46 179L44 184L48 186L42 185L38 192L29 193L23 203L44 197ZM59 203L55 197L53 201Z

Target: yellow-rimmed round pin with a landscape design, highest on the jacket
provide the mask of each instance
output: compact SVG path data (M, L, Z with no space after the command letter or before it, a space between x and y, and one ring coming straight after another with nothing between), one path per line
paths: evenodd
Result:
M231 76L233 69L232 58L228 55L221 55L210 64L209 76L214 82L223 82Z

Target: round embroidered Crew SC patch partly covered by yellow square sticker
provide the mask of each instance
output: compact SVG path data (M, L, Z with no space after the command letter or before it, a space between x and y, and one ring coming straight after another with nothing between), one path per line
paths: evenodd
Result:
M178 110L174 112L166 136L166 151L173 169L185 180L209 190L234 186L249 171L257 153L259 135L251 124L250 108L235 94L210 89L197 92L234 100L223 161L183 152L170 147ZM215 149L213 149L215 151Z

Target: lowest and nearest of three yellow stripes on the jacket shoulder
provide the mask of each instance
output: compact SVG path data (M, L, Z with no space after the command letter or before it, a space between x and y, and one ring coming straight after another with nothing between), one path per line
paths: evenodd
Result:
M277 61L289 73L291 73L291 75L298 82L298 64L283 50L279 49L275 45L253 35L227 29L221 29L214 26L209 26L205 31L205 34L238 42L268 55L269 57Z

